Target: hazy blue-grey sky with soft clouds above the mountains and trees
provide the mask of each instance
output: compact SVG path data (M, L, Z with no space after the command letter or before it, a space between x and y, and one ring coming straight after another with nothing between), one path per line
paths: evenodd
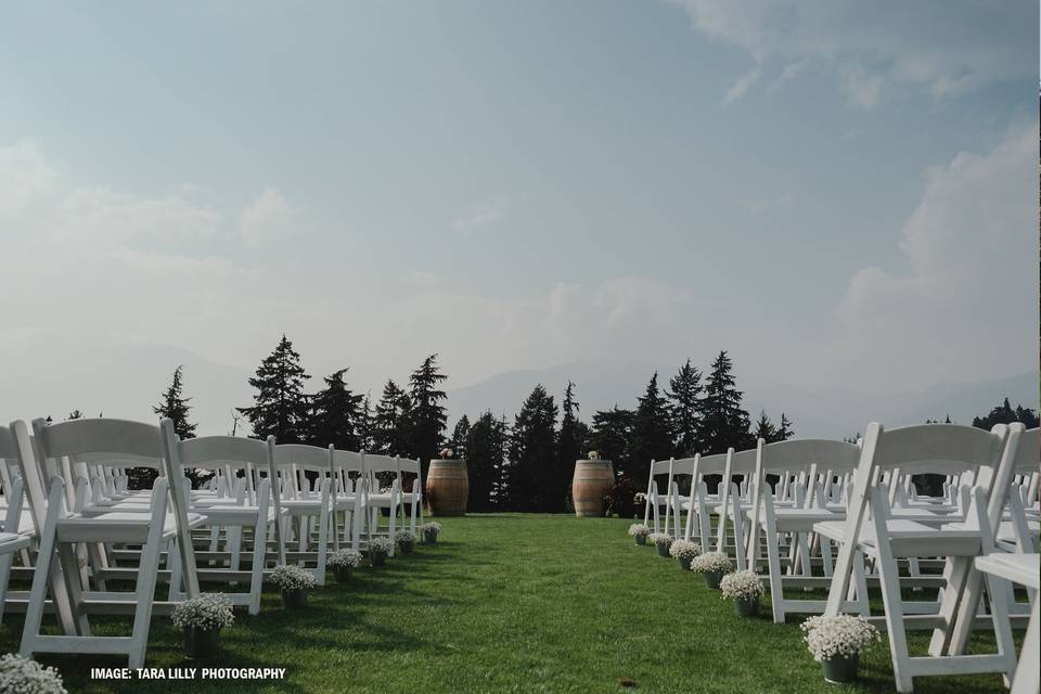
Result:
M1037 2L0 13L0 369L1037 368Z

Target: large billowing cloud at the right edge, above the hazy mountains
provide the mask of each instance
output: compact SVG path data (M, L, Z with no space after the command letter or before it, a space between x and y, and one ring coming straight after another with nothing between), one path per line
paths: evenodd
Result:
M1038 134L1017 128L928 172L900 239L907 270L852 277L836 362L909 387L1037 368Z

